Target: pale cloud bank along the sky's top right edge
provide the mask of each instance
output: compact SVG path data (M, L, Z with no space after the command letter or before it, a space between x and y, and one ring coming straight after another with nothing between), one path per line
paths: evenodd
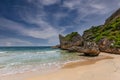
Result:
M89 14L105 14L111 9L118 7L120 1L105 1L105 0L66 0L63 6L69 9L76 9L80 13ZM114 6L114 7L113 7Z

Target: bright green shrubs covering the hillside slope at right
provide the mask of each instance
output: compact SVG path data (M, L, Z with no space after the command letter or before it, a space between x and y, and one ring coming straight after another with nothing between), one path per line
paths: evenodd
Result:
M120 47L120 17L114 19L109 24L92 27L85 32L92 33L89 39L98 42L102 38L115 41L114 47Z

